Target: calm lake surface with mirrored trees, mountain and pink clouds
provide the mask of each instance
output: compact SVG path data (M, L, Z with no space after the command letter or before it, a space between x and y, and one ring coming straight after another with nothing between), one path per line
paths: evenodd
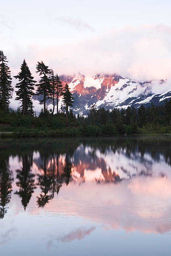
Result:
M171 136L0 140L0 255L171 255Z

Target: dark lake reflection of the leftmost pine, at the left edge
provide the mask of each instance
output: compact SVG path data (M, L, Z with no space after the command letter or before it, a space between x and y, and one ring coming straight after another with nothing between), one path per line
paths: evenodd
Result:
M9 159L0 160L0 218L3 219L10 202L13 173L9 169Z

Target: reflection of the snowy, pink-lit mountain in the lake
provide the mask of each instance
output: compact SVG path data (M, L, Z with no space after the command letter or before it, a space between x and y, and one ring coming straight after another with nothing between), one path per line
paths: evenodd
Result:
M59 156L58 172L61 182L64 182L62 177L66 166L68 166L68 161L71 164L69 167L71 172L68 174L68 181L66 182L65 180L67 184L71 180L77 180L79 182L85 182L86 180L119 182L123 179L130 179L135 175L153 176L154 172L156 172L156 170L153 170L153 164L163 161L164 158L162 154L154 150L156 145L153 140L143 143L143 145L138 143L136 139L133 139L131 143L122 139L121 141L114 141L115 143L109 143L107 140L106 145L103 145L103 143L100 144L102 146L96 146L93 142L90 143L88 141L88 145L84 142L80 143L72 156L68 153ZM158 145L158 141L156 143ZM162 144L158 149L161 146ZM166 152L168 151L166 150ZM56 159L56 154L54 155ZM67 161L66 156L67 159L69 158ZM168 157L166 159L166 162L168 162ZM38 169L41 169L40 164L38 164L39 161L40 159L36 159L35 163ZM53 160L50 157L48 159L48 166L53 166ZM56 170L57 166L55 162L55 175ZM157 175L163 176L164 174L160 172Z

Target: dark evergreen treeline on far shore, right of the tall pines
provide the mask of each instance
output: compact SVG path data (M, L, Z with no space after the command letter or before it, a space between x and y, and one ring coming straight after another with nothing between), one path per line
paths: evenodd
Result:
M163 126L171 125L171 99L165 100L160 106L151 103L147 108L141 105L138 109L132 106L109 111L104 108L96 109L93 105L87 117L78 115L77 119L85 129L87 125L94 125L106 130L103 133L108 135L136 134L146 125L155 131L162 131Z

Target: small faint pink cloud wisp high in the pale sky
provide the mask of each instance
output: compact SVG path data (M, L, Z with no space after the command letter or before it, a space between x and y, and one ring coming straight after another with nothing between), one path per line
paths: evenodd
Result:
M94 31L94 28L92 26L90 26L88 23L80 19L75 19L68 16L61 16L57 20L63 24L66 24L68 26L71 26L77 29L78 31L84 31L84 30Z

